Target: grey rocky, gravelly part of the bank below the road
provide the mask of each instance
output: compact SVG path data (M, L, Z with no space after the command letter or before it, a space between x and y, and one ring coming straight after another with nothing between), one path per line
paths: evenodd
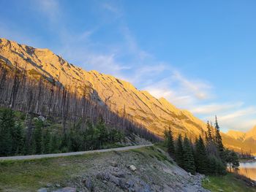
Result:
M202 175L185 172L158 147L105 153L79 163L86 171L38 191L207 191Z

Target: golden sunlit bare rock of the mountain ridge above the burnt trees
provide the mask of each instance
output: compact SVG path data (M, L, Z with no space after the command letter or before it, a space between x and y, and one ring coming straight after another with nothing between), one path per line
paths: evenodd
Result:
M139 91L129 82L119 80L97 71L85 71L69 64L61 56L48 49L19 45L7 39L0 39L0 59L18 69L26 69L31 78L42 74L46 80L58 81L69 91L81 97L94 98L99 104L106 104L118 115L125 115L132 122L141 124L162 137L169 126L174 136L187 134L195 138L206 131L206 124L187 110L179 110L164 98L157 99L147 91ZM88 94L89 93L89 94ZM240 139L222 134L227 147L241 150ZM250 146L246 146L246 150ZM256 149L255 149L256 153Z

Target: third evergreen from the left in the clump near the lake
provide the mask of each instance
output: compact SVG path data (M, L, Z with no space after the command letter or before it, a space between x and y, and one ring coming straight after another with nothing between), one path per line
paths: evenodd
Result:
M183 163L183 168L187 171L190 172L191 174L195 174L195 159L193 156L192 152L192 146L189 142L189 139L187 136L184 138L184 163Z

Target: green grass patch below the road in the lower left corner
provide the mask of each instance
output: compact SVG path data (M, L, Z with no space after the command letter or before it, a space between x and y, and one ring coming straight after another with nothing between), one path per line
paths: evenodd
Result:
M102 154L42 158L26 161L0 161L0 191L37 191L47 183L65 180L86 170L83 162Z

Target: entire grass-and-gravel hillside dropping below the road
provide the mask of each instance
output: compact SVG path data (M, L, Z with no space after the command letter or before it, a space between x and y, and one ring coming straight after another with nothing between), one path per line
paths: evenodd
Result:
M158 147L2 161L0 170L0 191L207 191L200 174L188 174Z

